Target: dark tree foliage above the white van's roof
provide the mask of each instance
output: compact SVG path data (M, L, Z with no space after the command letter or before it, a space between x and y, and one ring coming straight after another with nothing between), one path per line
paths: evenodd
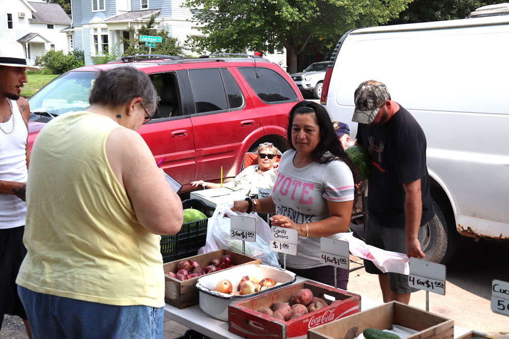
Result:
M505 2L507 0L414 0L399 18L390 20L388 24L464 19L476 8Z

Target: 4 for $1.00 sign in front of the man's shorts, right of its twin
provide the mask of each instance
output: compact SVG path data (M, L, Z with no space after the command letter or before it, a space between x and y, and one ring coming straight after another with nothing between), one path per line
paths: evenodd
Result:
M410 258L408 286L445 295L445 265Z

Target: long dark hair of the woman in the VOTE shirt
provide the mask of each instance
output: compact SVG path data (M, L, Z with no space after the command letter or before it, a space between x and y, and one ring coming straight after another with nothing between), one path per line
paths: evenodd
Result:
M352 160L348 156L347 152L341 146L340 141L337 138L334 127L332 127L332 121L330 120L329 113L325 107L317 104L313 101L301 101L292 107L288 116L288 143L290 147L295 149L292 142L292 124L295 114L311 114L315 113L315 121L320 128L320 142L313 151L311 159L319 164L326 164L332 160L341 160L350 168L353 174L355 183L364 181L360 175L357 167L352 163ZM329 152L329 153L327 153Z

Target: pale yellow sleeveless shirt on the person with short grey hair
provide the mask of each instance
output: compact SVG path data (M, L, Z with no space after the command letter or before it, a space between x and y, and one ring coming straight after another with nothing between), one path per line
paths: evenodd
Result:
M106 139L117 128L108 117L75 112L37 136L18 285L112 305L164 306L161 237L138 223L106 159Z

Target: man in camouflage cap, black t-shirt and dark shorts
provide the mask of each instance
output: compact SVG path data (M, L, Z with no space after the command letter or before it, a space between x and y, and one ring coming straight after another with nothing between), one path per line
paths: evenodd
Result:
M365 242L377 248L422 259L422 241L434 211L426 166L426 136L415 118L390 98L387 86L362 82L354 94L352 121L357 144L371 155L370 197ZM408 304L408 276L382 273L364 260L366 272L378 274L383 301Z

